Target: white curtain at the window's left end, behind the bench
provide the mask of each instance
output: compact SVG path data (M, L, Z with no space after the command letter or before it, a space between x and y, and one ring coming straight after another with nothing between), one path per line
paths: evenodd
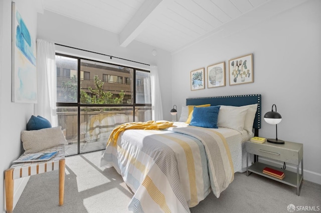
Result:
M37 39L38 103L35 104L35 115L47 118L52 126L58 125L56 75L55 44Z

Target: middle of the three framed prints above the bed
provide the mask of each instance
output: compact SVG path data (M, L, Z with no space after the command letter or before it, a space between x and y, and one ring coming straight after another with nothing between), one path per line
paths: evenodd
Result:
M225 62L216 63L207 67L207 87L225 86Z

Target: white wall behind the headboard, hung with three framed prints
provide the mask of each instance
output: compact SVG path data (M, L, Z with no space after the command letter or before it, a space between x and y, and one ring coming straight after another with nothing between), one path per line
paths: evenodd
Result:
M172 100L180 110L187 97L262 94L263 114L276 104L282 115L278 138L303 143L304 179L321 184L320 8L321 1L308 0L254 25L231 21L218 33L175 52ZM256 15L246 14L259 19ZM230 86L228 60L249 53L254 83ZM191 91L190 71L221 61L226 62L226 86ZM259 135L275 138L275 126L263 120Z

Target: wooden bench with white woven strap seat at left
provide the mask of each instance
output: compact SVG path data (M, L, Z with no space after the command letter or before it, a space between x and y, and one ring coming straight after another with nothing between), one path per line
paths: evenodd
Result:
M14 205L14 180L59 169L59 205L64 204L65 190L65 145L58 145L43 150L42 152L59 151L52 159L37 162L14 163L5 171L6 209L7 213L13 212ZM25 155L25 154L23 154ZM21 155L21 156L23 156Z

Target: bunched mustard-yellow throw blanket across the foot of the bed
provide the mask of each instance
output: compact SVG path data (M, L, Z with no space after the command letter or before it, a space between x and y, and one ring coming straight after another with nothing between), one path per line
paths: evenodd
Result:
M157 129L165 129L168 127L173 126L174 122L171 121L154 121L154 120L149 120L146 122L129 122L129 123L123 123L118 126L116 126L112 132L109 135L107 145L109 143L112 143L111 145L115 146L117 143L118 135L120 132L126 130L126 129L152 129L152 130L157 130Z

